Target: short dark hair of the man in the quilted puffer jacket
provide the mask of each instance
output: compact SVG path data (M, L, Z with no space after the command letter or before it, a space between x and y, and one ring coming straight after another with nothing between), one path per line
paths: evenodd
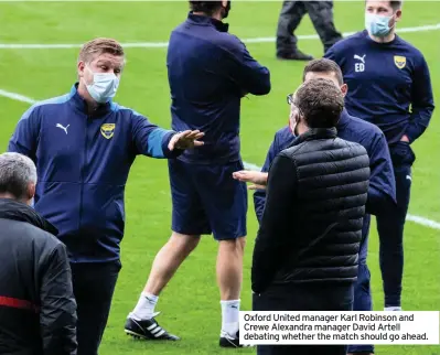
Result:
M310 128L335 127L344 108L341 89L329 79L303 83L294 96L294 105Z

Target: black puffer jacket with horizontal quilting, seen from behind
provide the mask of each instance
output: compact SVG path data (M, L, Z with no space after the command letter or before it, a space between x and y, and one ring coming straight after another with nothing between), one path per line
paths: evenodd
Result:
M369 179L365 148L312 129L273 160L253 260L253 290L354 282Z

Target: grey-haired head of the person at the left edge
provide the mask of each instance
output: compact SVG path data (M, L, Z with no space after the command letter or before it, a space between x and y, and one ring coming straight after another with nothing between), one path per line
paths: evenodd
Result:
M30 204L36 185L34 162L19 153L0 154L0 197Z

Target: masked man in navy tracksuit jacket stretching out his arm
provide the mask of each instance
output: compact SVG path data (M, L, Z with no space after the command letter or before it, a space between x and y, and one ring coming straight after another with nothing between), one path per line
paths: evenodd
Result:
M19 121L9 151L30 157L39 183L35 211L67 246L77 302L78 355L96 355L121 263L124 193L135 158L173 158L198 146L198 132L161 129L111 101L125 54L114 40L86 43L79 83L69 94L32 106Z

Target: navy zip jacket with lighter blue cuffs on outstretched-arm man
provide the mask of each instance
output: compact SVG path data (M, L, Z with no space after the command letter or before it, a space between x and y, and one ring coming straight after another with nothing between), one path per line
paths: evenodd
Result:
M32 106L8 150L36 163L35 211L60 230L71 261L111 261L119 259L131 164L138 154L178 154L168 150L173 133L115 103L88 116L75 85Z

